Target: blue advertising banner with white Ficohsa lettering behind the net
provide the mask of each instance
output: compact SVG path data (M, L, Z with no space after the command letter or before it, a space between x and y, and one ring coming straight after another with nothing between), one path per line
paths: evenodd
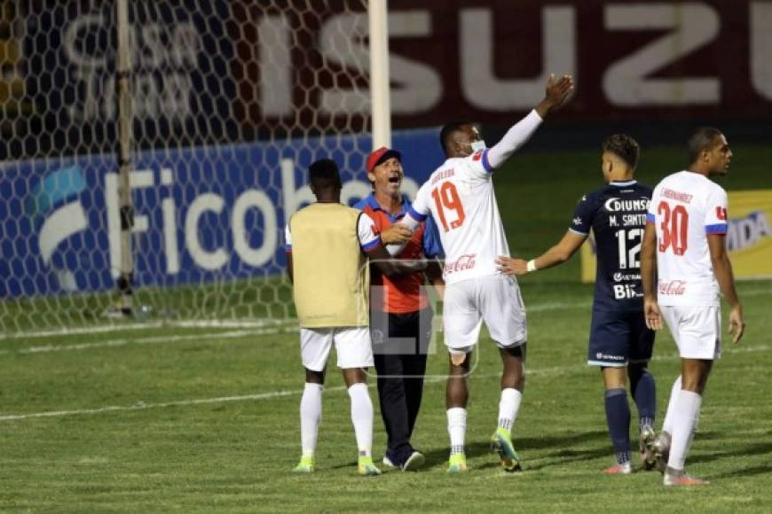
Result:
M370 191L372 140L338 136L140 152L130 183L137 286L199 284L280 273L288 215L312 201L306 169L331 157L343 202ZM395 133L410 197L442 162L437 129ZM0 167L0 297L114 287L120 264L112 155L6 162Z

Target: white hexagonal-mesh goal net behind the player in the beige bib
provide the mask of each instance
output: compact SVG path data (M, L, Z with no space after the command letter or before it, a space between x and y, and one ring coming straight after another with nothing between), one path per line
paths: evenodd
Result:
M304 170L332 157L344 201L369 191L366 0L127 4L122 216L115 0L0 1L0 332L127 323L106 314L129 225L135 318L291 318Z

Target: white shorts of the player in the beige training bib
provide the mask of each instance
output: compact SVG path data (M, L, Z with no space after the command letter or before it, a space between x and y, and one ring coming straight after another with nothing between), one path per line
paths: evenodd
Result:
M373 346L368 327L340 327L328 329L300 328L300 355L303 368L323 371L327 366L330 348L335 343L338 368L369 368L373 365Z

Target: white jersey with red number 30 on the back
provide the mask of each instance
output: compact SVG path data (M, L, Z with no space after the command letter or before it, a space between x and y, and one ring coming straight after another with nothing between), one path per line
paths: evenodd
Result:
M718 306L708 234L727 233L727 191L704 175L681 171L654 188L647 222L657 229L658 302Z

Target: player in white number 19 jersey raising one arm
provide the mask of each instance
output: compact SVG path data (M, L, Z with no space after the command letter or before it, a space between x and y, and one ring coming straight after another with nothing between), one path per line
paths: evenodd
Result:
M485 148L477 128L462 122L445 125L440 142L447 160L421 186L402 222L415 228L431 214L445 248L445 346L450 352L446 407L451 456L448 472L466 471L464 438L469 391L469 354L477 345L482 321L500 348L503 362L499 426L492 449L506 471L520 471L520 460L511 440L511 427L520 407L524 387L525 309L514 276L496 269L496 258L509 255L493 193L492 172L500 167L541 121L573 90L573 79L550 75L547 94L531 113L501 141ZM398 248L389 248L390 253Z

